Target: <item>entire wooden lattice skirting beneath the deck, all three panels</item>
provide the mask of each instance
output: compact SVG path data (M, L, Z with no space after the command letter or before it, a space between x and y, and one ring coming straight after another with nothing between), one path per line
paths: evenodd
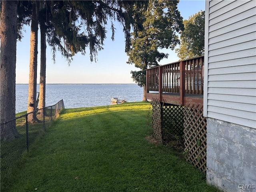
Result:
M173 135L183 135L186 160L206 172L207 121L203 116L203 105L174 106L153 99L152 110L153 137L162 143L162 131L166 126Z

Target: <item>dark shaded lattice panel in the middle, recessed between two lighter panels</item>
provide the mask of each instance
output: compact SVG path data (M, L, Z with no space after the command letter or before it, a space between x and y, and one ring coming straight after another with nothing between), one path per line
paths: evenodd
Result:
M184 130L184 107L172 104L164 104L162 107L162 132L167 132L173 136L182 137ZM163 133L162 133L163 134Z

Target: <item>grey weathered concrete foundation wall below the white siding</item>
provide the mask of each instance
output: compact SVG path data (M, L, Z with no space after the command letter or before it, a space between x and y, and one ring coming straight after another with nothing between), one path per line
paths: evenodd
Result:
M207 119L208 184L225 192L256 192L256 129Z

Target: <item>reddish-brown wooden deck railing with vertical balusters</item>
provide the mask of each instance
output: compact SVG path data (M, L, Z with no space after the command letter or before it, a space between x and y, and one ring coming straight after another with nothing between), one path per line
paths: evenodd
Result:
M147 92L203 94L204 56L146 70Z

